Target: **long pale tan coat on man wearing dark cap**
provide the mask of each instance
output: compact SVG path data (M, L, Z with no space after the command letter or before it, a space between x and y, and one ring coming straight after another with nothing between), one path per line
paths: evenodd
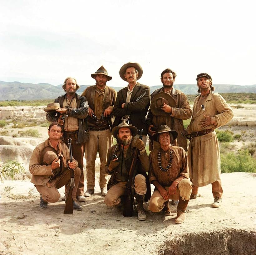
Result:
M199 98L200 95L194 101L192 119L188 127L189 134L204 129L219 128L233 118L234 113L232 109L221 95L210 93L205 99L204 110L200 107L200 110L197 112ZM199 121L204 119L204 115L214 118L217 126L209 125L202 128ZM220 179L219 142L215 131L191 139L188 150L188 162L190 178L195 186L202 187Z

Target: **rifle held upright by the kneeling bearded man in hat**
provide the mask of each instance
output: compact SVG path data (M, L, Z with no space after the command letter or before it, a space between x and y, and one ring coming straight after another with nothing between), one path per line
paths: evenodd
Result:
M140 138L140 140L142 140L143 129L140 129L139 132L140 132L139 138ZM136 148L134 157L132 159L131 166L130 166L129 179L126 184L126 190L125 190L126 201L124 204L124 212L123 212L124 216L132 216L133 207L136 211L135 202L134 202L134 195L135 195L134 179L136 176L135 167L136 167L136 163L137 163L137 159L138 159L138 154L139 154L139 149Z

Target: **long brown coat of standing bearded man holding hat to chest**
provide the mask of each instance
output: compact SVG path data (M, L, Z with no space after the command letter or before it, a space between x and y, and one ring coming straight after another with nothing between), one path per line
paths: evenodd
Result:
M161 92L163 88L156 89L150 97L150 101L152 102L155 95ZM147 116L147 127L149 125L154 125L156 128L159 128L161 125L167 125L171 130L176 130L178 132L177 145L182 147L185 151L187 151L187 138L183 135L185 134L183 121L185 119L189 119L192 114L192 110L189 106L189 101L186 95L181 92L179 89L172 89L170 94L176 100L176 107L172 108L172 113L169 113L170 116L156 116L153 115L151 110L149 109ZM168 114L168 113L166 113ZM152 137L150 136L152 139Z

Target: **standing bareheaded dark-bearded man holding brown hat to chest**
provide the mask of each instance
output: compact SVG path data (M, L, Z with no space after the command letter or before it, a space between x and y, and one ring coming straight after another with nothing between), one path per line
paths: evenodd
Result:
M153 136L161 125L167 125L171 130L178 132L177 146L187 151L187 139L184 136L183 121L191 117L192 111L185 94L173 87L176 73L169 68L161 73L163 88L156 89L151 94L151 104L147 116L148 133L150 135L150 151L159 146L154 142ZM183 134L184 133L184 134ZM173 141L174 142L174 141Z

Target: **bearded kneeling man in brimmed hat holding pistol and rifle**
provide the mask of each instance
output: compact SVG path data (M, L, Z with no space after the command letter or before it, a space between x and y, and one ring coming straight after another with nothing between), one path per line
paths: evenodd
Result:
M149 169L149 159L142 140L137 138L133 141L138 130L123 121L113 128L112 135L117 139L117 144L110 147L107 153L106 173L111 175L108 182L108 192L105 197L107 206L116 206L121 203L121 196L125 194L126 183L129 178L130 166L132 164L135 150L138 148L139 156L135 159L135 197L138 203L138 219L145 220L146 214L143 208L143 200L150 199L150 183L146 172ZM114 156L114 159L113 157Z

